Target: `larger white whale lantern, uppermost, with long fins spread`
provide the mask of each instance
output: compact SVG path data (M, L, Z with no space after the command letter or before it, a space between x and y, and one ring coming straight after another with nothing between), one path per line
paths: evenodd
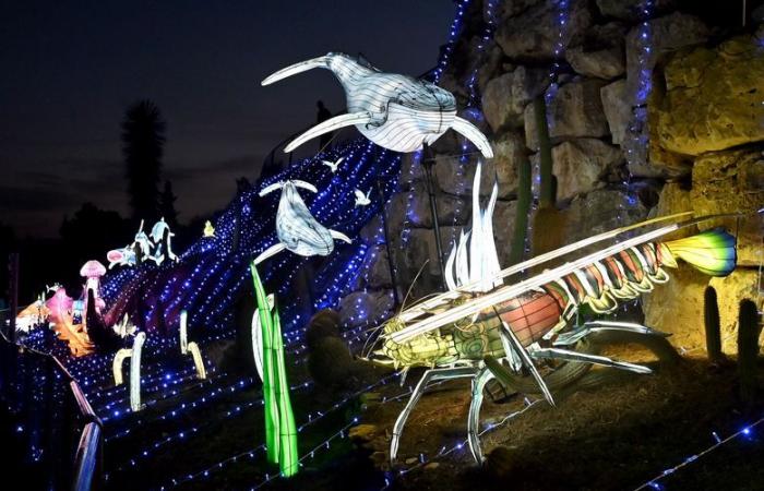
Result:
M289 153L324 133L355 125L373 143L394 152L415 152L432 144L449 129L473 142L486 158L493 157L488 139L469 121L456 116L456 99L430 82L396 73L382 73L365 60L330 52L293 64L262 81L270 85L314 68L329 69L339 80L347 98L347 113L317 124L291 141Z

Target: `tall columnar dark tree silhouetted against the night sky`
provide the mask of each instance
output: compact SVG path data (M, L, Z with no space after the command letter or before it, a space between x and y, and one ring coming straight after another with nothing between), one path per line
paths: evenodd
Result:
M154 103L141 100L128 108L122 122L122 143L132 217L151 223L158 218L158 185L165 144L165 121Z

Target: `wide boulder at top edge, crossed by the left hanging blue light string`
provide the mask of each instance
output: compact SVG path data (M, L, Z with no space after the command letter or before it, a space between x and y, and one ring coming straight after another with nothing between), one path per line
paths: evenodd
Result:
M574 45L592 25L592 17L586 0L570 0L563 45ZM537 2L515 16L503 19L494 38L513 60L552 59L559 32L557 5Z

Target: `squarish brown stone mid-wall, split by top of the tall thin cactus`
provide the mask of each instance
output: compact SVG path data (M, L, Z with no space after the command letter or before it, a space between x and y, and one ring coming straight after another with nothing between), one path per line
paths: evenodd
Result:
M584 79L560 87L547 106L549 136L552 142L575 137L601 137L609 134L599 91L604 82ZM538 148L533 105L525 108L525 144Z

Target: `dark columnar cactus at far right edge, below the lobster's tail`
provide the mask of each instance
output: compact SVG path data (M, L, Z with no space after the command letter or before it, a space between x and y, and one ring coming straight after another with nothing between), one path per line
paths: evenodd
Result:
M756 357L759 355L759 311L752 300L740 302L738 316L738 373L740 398L752 404L756 398Z

